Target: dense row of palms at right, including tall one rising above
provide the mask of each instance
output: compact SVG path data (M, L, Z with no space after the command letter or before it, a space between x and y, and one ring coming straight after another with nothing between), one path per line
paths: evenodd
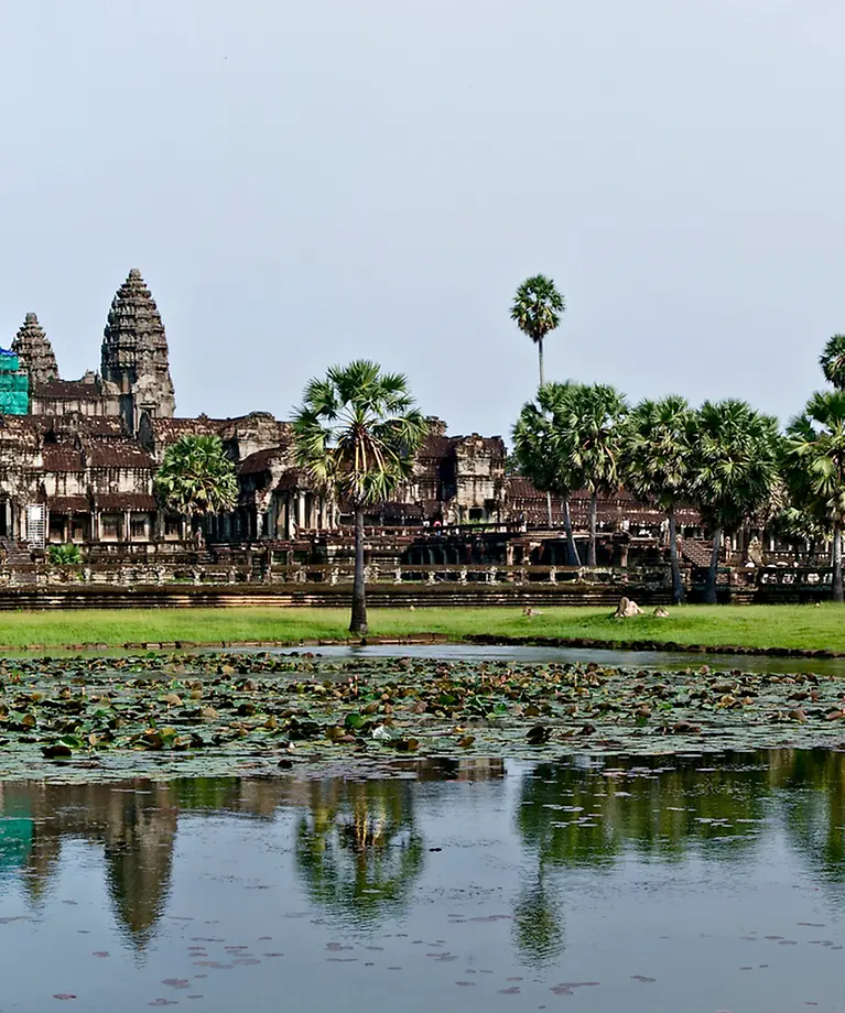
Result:
M597 500L624 487L665 513L675 602L683 600L680 506L695 508L713 537L705 601L716 601L724 536L748 524L830 543L833 598L842 601L845 335L834 335L820 359L831 388L816 391L781 431L773 416L738 399L693 407L670 394L631 407L609 384L546 383L543 341L564 309L554 282L544 275L527 279L517 291L511 317L538 348L540 388L520 412L513 447L522 475L561 498L570 563L582 562L572 533L572 493L591 493L586 562L595 566Z

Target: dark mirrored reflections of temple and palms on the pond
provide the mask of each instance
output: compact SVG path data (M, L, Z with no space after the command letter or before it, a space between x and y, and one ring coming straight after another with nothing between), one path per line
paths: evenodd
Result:
M511 764L507 773L511 792L495 797L497 805L508 799L512 817L503 812L488 826L516 831L518 871L506 886L512 939L529 965L552 963L563 952L567 891L578 870L607 874L630 858L736 865L758 857L763 839L779 832L819 882L845 880L843 752L604 764L576 758ZM113 915L141 949L167 908L184 818L241 814L272 830L288 813L292 819L278 834L290 847L290 873L313 907L344 924L376 925L409 908L430 867L436 876L427 829L435 817L472 837L461 799L473 796L449 782L472 792L505 775L502 761L466 759L409 760L396 776L369 781L7 784L0 786L0 901L10 883L20 882L39 909L62 870L63 849L84 841L101 849ZM488 806L494 799L479 797Z

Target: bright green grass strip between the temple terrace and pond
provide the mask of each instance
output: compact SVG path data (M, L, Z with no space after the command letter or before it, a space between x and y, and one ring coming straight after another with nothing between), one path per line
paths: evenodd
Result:
M811 606L685 606L669 619L610 619L611 609L544 609L533 619L508 609L373 609L376 636L444 633L454 641L478 633L505 636L591 638L745 647L845 652L845 608ZM0 644L10 647L128 642L220 642L344 639L348 612L337 609L161 609L4 612Z

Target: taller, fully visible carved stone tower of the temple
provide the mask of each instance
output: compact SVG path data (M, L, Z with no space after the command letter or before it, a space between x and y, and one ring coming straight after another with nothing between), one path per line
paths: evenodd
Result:
M120 414L136 433L142 412L172 418L176 410L167 338L159 307L133 268L111 302L102 338L104 383L120 397Z

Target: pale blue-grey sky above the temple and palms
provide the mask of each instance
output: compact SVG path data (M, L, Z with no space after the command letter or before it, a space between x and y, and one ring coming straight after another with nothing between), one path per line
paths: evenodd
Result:
M845 330L842 0L0 0L0 345L141 269L177 414L371 357L510 432L546 375L786 418Z

